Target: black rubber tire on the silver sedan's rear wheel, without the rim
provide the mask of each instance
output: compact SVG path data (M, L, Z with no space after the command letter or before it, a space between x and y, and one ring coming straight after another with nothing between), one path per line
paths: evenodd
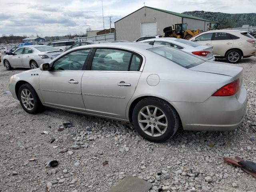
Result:
M158 121L160 122L160 120L161 120L161 119L156 120L158 115L155 115L156 118L155 117L148 118L148 120L149 119L150 119L150 121L152 120L151 125L154 123L154 125L152 125L152 127L151 127L151 125L148 125L148 124L150 124L150 122L149 123L141 123L141 122L139 123L139 119L140 119L139 116L141 116L140 111L143 110L146 106L152 107L152 111L150 111L151 112L150 115L152 115L152 117L154 115L153 114L154 107L160 109L163 112L162 114L165 115L164 121L166 120L166 122L167 122L167 126L166 126L167 128L165 128L164 132L161 133L159 136L157 136L157 135L152 136L152 134L150 135L150 131L152 131L151 128L155 126L155 123L158 124ZM159 116L161 116L161 111L159 111L160 112ZM179 117L178 117L176 110L170 104L168 104L167 102L165 102L161 99L158 99L158 98L145 98L145 99L142 99L140 102L138 102L136 104L136 106L134 107L134 110L132 113L132 120L134 123L134 127L135 127L136 131L140 134L140 136L142 136L144 139L149 140L151 142L164 142L164 141L168 140L169 138L171 138L179 128ZM147 120L147 118L144 117L144 120ZM142 120L142 121L144 121L144 120ZM156 121L156 122L154 122L154 121ZM162 122L162 123L166 124L166 122ZM147 129L146 131L143 131L140 126L145 126L145 128L146 128L146 126L150 126L150 128L148 128L150 130ZM158 126L158 125L156 125L156 126ZM163 131L163 129L164 128L162 128L162 129L160 128L160 130L162 130L162 131ZM160 133L156 130L155 127L153 128L153 130L156 131L156 133Z

